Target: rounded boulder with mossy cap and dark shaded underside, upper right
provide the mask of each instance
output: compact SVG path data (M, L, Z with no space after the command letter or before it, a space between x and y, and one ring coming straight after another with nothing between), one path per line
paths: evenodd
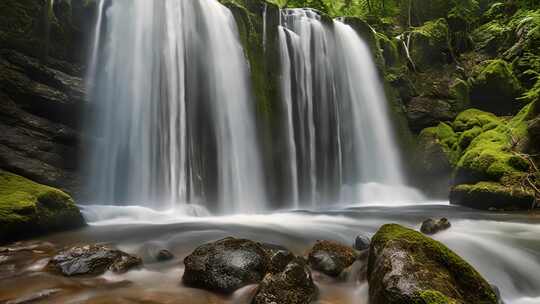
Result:
M471 80L470 100L473 107L498 115L515 114L522 104L522 93L512 67L504 60L490 60L477 67Z

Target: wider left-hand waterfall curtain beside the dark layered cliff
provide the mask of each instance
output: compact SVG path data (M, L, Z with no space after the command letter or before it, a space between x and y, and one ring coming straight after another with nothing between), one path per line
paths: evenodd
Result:
M99 8L89 200L263 210L248 68L230 11L215 0L116 0L106 14L101 1Z

